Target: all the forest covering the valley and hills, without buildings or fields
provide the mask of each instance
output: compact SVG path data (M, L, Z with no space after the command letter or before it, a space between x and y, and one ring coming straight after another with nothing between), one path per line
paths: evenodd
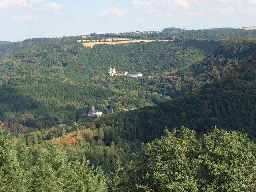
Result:
M145 34L0 42L0 192L256 191L255 30Z

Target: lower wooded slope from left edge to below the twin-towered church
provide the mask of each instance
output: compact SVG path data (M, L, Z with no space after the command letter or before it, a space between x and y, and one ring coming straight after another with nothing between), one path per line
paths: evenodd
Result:
M100 86L46 76L0 78L0 120L14 131L16 124L48 128L62 122L73 124L78 119L92 120L82 117L92 105L102 111L107 107L119 111L154 106L171 99L146 90L145 79L137 82L127 77L112 78L112 84Z

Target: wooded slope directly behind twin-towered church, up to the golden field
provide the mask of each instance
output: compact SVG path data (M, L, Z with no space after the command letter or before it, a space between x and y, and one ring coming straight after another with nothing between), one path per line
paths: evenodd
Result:
M97 45L85 48L65 68L68 78L87 81L94 75L106 74L110 65L118 72L138 71L153 74L176 70L210 54L219 45L214 41L140 42Z

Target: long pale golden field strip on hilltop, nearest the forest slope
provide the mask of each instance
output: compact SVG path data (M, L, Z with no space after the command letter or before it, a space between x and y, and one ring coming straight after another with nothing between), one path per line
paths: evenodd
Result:
M102 41L102 42L82 42L82 44L86 47L93 47L94 45L99 44L108 44L108 45L115 45L115 44L124 44L124 43L136 43L136 42L152 42L152 41L168 41L168 40L129 40L129 39L116 39L116 41ZM115 39L113 39L115 40ZM81 42L81 41L80 41Z

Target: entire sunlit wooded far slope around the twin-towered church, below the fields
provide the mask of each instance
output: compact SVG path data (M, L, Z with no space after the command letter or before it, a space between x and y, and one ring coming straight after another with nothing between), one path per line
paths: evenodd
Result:
M29 39L0 46L0 120L45 128L88 121L88 106L115 111L154 106L170 97L147 88L148 78L110 78L118 72L161 73L189 66L220 43L205 40L98 45L86 48L77 37ZM138 81L139 80L139 81ZM145 83L144 83L145 82Z

